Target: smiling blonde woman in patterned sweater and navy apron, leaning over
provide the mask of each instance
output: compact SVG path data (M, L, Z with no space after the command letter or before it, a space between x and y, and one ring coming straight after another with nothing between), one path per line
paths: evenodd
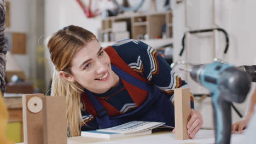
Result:
M174 88L188 86L152 47L124 40L103 49L91 32L68 26L48 48L55 65L51 95L66 96L69 136L136 120L174 126ZM202 126L193 100L191 94L191 138Z

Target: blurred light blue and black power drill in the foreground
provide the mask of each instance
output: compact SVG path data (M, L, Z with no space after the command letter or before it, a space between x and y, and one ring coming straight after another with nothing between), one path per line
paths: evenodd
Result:
M229 144L231 135L231 103L242 103L251 87L251 77L230 64L213 62L194 65L191 78L211 92L215 143Z

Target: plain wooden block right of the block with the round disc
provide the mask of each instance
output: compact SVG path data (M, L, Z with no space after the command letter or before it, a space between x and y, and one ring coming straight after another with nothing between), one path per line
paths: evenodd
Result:
M66 144L66 99L61 96L43 98L44 144Z

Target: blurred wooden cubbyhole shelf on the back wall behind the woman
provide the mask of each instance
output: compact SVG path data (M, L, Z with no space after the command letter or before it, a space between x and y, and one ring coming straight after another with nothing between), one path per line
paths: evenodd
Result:
M127 28L113 28L114 22L126 22ZM122 39L172 38L172 11L112 16L103 19L101 23L102 31L99 37L101 41L115 40L112 36L117 32L129 32L130 38L126 36ZM163 29L165 29L164 32Z

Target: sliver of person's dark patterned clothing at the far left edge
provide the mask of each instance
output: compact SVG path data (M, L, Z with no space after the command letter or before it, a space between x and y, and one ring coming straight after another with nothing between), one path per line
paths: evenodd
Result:
M5 27L5 3L4 0L0 0L0 88L1 91L5 91L5 54L7 46L4 38Z

